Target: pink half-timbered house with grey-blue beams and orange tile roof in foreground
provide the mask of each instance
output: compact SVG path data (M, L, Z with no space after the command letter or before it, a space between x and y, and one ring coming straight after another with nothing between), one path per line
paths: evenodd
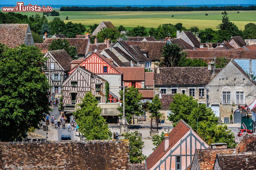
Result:
M145 161L146 169L186 169L192 163L196 149L209 146L183 120L172 129Z

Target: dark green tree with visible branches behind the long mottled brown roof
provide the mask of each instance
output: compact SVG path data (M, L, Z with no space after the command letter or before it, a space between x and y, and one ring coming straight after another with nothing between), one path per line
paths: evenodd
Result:
M178 65L180 58L186 56L178 44L166 44L162 50L162 60L160 66L175 67Z

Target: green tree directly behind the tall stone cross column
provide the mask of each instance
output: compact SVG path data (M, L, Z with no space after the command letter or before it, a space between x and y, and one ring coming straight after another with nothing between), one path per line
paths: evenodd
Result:
M119 95L121 102L123 102L123 90L119 91ZM125 88L124 90L124 97L125 97L125 116L127 119L127 122L129 124L131 124L131 119L133 115L139 116L141 115L142 112L142 108L141 106L141 98L143 97L141 93L139 93L138 88L135 88L134 86L131 86L129 88ZM120 114L119 116L122 117L123 116L123 107L120 106L118 108Z

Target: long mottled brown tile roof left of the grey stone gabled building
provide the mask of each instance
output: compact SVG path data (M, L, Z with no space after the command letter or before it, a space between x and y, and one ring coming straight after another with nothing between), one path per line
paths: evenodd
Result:
M204 85L211 80L207 67L161 67L154 69L155 85Z

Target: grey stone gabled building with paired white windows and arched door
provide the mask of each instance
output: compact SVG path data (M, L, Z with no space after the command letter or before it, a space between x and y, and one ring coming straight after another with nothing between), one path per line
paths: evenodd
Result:
M249 105L256 98L256 82L251 80L234 60L231 60L205 89L209 95L208 106L224 123L229 123L231 114L234 123L241 123L238 104Z

